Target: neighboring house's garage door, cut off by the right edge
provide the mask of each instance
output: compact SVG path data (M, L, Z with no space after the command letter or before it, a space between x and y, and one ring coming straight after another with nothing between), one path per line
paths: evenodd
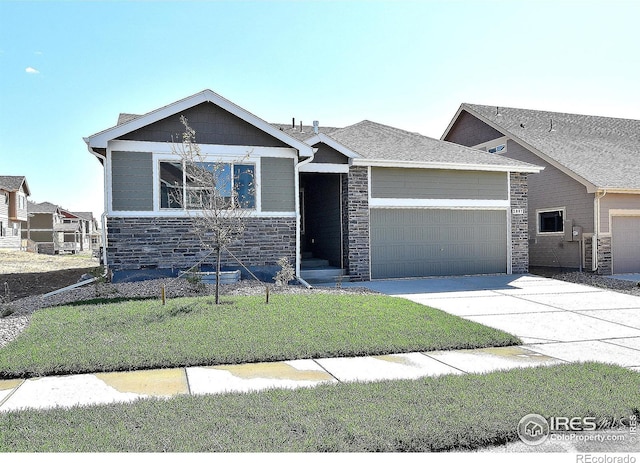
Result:
M640 217L612 217L611 252L614 273L640 272Z

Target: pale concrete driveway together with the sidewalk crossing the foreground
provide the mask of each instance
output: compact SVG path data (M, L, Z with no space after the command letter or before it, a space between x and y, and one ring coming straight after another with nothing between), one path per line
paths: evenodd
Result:
M0 380L0 412L128 402L179 394L483 373L587 360L640 371L640 297L531 275L377 281L357 285L507 331L519 336L525 345Z

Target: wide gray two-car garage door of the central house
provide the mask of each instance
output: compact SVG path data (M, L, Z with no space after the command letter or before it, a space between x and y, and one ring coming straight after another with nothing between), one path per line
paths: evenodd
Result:
M505 273L505 211L372 209L371 276Z

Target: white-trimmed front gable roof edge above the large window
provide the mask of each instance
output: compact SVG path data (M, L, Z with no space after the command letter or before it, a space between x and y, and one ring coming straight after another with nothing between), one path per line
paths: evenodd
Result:
M311 156L313 154L313 150L310 146L305 145L300 140L292 137L284 131L278 130L268 122L260 119L249 111L241 108L240 106L232 103L231 101L223 98L222 96L211 90L203 90L187 98L183 98L182 100L178 100L161 108L154 109L153 111L140 116L136 116L135 114L123 113L118 118L118 125L95 133L89 137L85 137L84 141L87 143L89 151L95 154L95 149L106 148L109 140L113 140L114 138L118 138L124 134L164 119L165 117L172 116L181 111L184 111L185 109L192 108L198 104L205 102L213 103L221 107L234 116L239 117L240 119L248 122L254 127L291 146L292 148L297 149L301 156Z

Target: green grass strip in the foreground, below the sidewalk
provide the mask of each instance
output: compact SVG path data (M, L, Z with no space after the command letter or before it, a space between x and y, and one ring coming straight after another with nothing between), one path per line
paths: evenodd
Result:
M0 414L0 452L475 449L518 441L529 413L628 423L640 416L638 384L640 373L585 363L28 410Z

